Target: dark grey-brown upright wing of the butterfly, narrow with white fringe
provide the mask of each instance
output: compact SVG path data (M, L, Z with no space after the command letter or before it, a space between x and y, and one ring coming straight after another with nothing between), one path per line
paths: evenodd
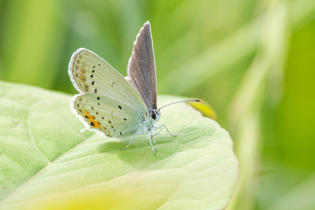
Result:
M138 91L148 109L157 109L157 85L150 23L140 29L129 59L127 80Z

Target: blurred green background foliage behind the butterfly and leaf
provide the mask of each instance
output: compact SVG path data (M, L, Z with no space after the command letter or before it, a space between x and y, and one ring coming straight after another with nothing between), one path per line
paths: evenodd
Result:
M75 94L80 47L126 76L147 20L158 94L209 102L234 141L227 208L315 209L314 0L2 0L0 79Z

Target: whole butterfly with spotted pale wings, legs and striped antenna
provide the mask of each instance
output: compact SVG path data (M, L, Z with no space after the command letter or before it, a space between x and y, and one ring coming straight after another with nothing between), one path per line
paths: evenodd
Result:
M128 148L136 134L147 134L155 155L154 136L163 127L169 130L164 124L157 126L161 108L157 109L155 60L149 21L140 29L134 42L126 78L105 60L84 48L73 53L68 73L74 87L80 92L72 97L70 108L86 129L109 137L132 136L124 149ZM157 129L159 131L154 133ZM169 134L176 136L171 132Z

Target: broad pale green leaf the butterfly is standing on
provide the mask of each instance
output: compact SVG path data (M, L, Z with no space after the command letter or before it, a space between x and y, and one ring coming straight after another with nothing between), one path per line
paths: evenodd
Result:
M0 82L0 208L226 207L238 178L227 131L186 103L161 111L153 155L146 135L83 131L71 96ZM159 96L158 106L183 98Z

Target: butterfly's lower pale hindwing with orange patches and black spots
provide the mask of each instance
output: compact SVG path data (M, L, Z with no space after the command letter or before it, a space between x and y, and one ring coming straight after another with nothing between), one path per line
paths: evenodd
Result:
M128 103L106 96L77 94L71 103L86 128L93 128L107 136L125 136L139 130L143 118ZM144 113L143 113L144 114Z

